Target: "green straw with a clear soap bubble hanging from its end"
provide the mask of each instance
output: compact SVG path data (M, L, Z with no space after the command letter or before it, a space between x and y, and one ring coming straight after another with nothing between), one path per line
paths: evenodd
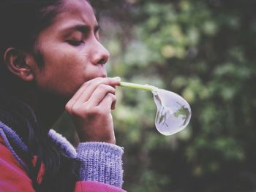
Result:
M191 108L187 101L178 94L152 85L141 85L132 82L120 82L119 85L153 93L154 102L157 105L155 125L161 134L176 134L187 127L191 118Z

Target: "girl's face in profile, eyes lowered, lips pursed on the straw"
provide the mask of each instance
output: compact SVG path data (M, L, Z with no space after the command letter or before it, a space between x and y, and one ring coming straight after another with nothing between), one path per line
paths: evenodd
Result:
M67 0L64 11L39 34L44 66L34 62L34 79L43 91L71 97L83 82L106 77L108 50L99 42L99 25L85 0Z

